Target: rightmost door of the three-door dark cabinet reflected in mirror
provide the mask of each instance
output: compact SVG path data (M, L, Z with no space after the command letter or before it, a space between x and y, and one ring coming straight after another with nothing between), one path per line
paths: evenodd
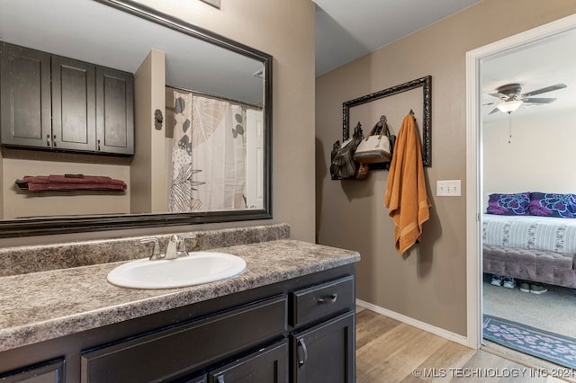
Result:
M96 150L134 154L134 78L96 67Z

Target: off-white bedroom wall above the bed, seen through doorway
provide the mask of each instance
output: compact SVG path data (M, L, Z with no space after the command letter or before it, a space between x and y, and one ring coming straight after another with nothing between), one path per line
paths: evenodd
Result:
M493 192L576 192L576 108L549 112L545 105L536 114L522 110L509 118L484 123L483 195ZM532 111L536 111L535 109Z

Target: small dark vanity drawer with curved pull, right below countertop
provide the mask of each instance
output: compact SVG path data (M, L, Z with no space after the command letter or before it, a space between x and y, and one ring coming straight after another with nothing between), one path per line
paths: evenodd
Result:
M355 305L354 276L349 275L293 292L294 327L345 311Z

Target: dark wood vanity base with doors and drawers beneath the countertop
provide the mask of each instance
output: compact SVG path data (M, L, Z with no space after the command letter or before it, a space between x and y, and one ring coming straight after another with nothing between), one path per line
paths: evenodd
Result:
M341 266L0 352L0 382L353 382L355 303Z

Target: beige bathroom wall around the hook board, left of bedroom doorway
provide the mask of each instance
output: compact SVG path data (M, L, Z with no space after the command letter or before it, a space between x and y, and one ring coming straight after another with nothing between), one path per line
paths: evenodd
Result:
M465 53L576 13L571 0L484 0L316 80L317 235L355 249L357 296L452 334L466 334ZM421 245L401 257L383 208L388 177L331 181L329 153L342 135L342 102L432 76L431 218ZM410 108L410 106L409 106ZM461 197L437 197L437 180L462 180Z

